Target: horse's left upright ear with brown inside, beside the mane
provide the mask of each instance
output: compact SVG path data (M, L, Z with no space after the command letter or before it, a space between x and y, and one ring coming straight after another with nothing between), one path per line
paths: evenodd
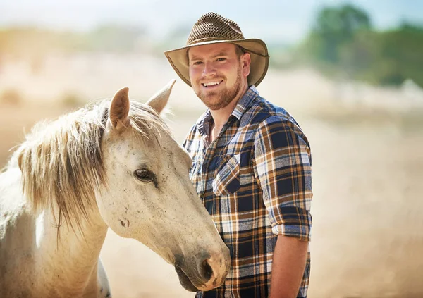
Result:
M109 122L117 129L126 128L129 124L129 88L124 87L114 94L109 108Z

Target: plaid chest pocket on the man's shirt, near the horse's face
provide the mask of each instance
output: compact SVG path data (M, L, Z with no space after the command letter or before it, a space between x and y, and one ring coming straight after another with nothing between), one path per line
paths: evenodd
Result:
M216 196L233 194L240 188L241 154L223 156L221 166L213 180L213 192Z

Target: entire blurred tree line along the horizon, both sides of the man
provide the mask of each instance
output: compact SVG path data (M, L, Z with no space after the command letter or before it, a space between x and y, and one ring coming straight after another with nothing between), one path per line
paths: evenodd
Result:
M163 39L152 39L146 28L121 25L103 25L91 32L11 28L0 30L0 60L2 56L29 58L37 73L51 52L136 52L163 58L164 50L185 44L190 30L180 25ZM350 4L321 8L300 45L290 48L268 42L268 48L271 67L311 63L337 78L374 85L400 85L410 78L423 87L423 26L403 23L376 31L367 12Z

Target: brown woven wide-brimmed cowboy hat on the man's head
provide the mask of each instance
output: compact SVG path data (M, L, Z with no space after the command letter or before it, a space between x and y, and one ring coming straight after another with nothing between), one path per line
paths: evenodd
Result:
M223 42L238 44L243 51L250 53L248 85L259 85L269 67L269 53L266 44L261 39L245 39L237 23L228 18L223 18L217 13L202 15L192 27L186 46L165 51L164 54L180 78L192 87L188 67L188 49L192 46L221 44Z

